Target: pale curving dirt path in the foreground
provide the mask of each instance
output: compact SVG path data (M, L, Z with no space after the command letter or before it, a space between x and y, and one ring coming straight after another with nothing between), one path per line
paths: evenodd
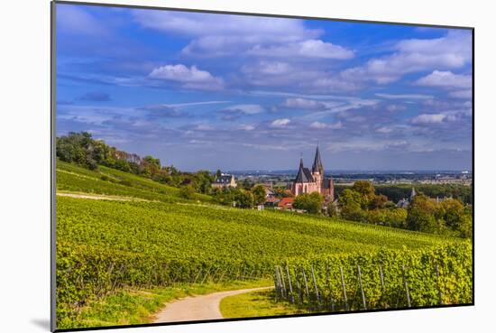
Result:
M153 322L175 322L189 320L222 319L220 301L227 297L244 292L261 291L273 287L240 289L237 291L219 291L201 296L192 296L171 301L155 315Z

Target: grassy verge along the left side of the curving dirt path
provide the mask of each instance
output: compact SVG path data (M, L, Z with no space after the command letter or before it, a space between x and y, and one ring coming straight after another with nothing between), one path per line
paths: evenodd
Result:
M101 300L92 301L77 315L64 319L58 328L89 328L96 326L136 325L149 323L165 303L192 295L215 291L270 286L271 280L181 284L168 288L124 289Z

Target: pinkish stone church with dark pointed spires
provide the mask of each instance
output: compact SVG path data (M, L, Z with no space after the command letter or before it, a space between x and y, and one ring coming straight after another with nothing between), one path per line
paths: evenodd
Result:
M312 171L303 166L303 159L299 160L299 171L296 179L293 180L291 185L291 193L296 197L302 193L320 193L327 202L334 201L334 181L332 177L326 178L324 176L324 166L320 160L320 152L315 153L314 164Z

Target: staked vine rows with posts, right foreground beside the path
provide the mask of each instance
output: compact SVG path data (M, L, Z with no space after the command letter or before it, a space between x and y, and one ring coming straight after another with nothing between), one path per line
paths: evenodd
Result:
M374 310L473 301L472 247L338 254L275 267L276 298L310 310Z

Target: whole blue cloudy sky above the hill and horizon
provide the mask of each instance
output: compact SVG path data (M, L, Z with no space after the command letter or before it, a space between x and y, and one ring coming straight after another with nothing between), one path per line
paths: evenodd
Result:
M472 170L469 30L57 4L56 133L183 171Z

